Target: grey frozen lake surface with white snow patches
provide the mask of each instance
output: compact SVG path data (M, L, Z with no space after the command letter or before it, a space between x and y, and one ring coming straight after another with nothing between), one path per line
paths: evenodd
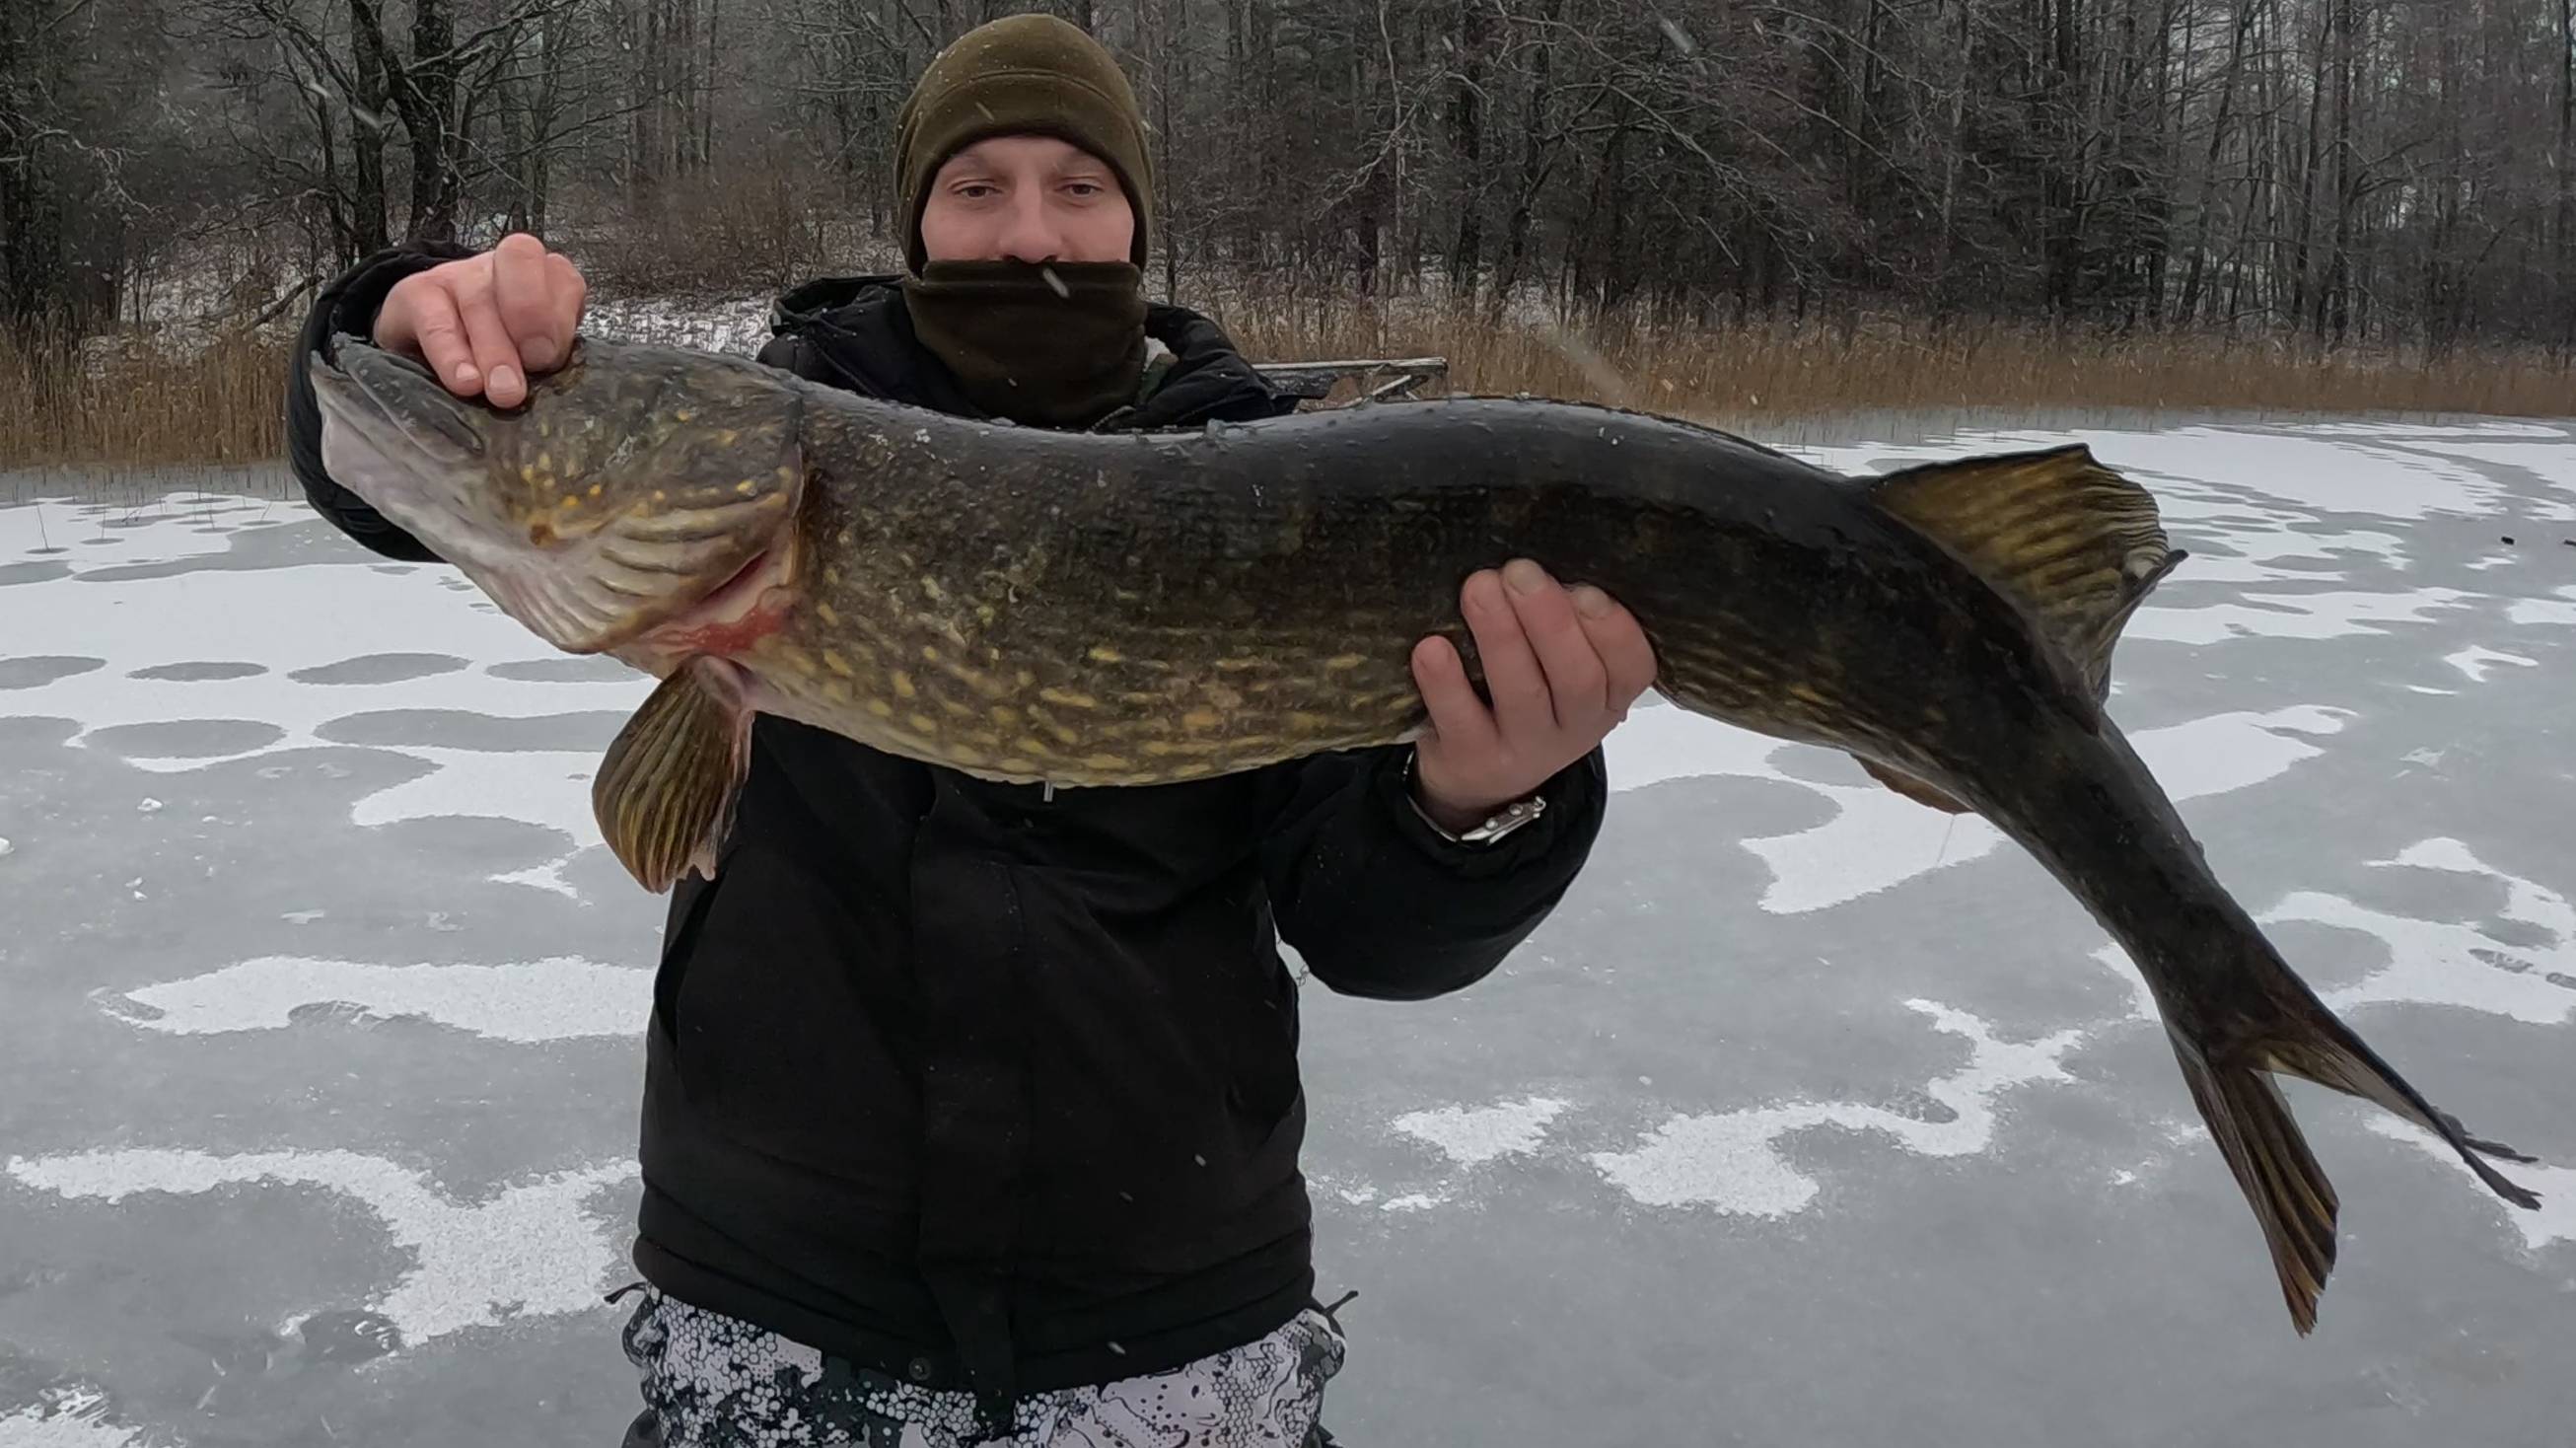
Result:
M2522 1214L2290 1085L2293 1335L2125 956L2020 848L1674 709L1489 982L1306 989L1355 1448L2566 1448L2576 428L2084 438L2192 551L2112 716ZM0 1448L605 1448L662 902L587 778L647 683L240 477L0 477Z

